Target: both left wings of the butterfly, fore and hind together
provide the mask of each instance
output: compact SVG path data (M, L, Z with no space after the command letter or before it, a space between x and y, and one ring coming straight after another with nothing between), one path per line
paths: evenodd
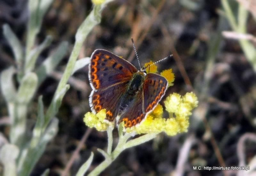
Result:
M89 65L92 111L97 113L106 109L106 119L114 121L121 98L135 72L137 69L126 60L106 50L96 49Z

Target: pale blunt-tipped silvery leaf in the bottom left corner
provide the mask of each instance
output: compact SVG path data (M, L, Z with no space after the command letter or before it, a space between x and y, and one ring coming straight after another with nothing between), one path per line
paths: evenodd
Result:
M16 158L18 157L19 149L16 145L5 144L0 150L0 161L4 165L4 176L15 176L16 173Z

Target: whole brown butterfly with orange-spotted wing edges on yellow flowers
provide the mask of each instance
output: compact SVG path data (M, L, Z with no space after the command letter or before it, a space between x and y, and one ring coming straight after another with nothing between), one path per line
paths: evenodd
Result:
M92 112L105 109L106 120L117 124L123 121L125 128L140 124L157 106L168 86L164 77L146 73L145 69L137 70L119 56L96 49L89 64Z

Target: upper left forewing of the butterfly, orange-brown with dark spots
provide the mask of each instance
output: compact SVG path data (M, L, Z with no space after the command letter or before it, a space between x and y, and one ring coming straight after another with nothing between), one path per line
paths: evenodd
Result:
M89 80L94 90L130 81L135 72L130 62L104 49L96 49L91 56Z

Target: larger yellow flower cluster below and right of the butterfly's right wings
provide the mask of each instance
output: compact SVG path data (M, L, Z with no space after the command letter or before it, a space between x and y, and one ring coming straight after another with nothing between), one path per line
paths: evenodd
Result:
M169 136L186 132L191 111L198 105L197 96L193 92L186 93L184 96L173 93L166 98L164 105L169 113L167 119L162 117L163 107L158 104L140 125L127 128L126 132L137 134L165 132Z

